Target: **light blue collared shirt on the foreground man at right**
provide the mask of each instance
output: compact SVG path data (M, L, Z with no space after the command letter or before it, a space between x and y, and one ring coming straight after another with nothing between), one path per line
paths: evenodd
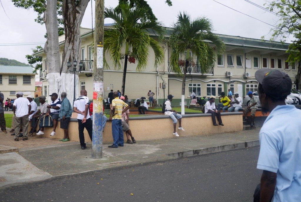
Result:
M301 199L301 110L279 105L265 120L260 132L257 168L277 173L275 201Z

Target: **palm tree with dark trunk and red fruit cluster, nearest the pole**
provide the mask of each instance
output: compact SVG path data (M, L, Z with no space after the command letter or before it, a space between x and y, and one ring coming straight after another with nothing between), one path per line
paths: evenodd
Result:
M155 54L154 65L157 67L163 62L163 49L149 33L153 32L161 41L164 38L165 29L160 22L145 18L148 12L145 7L131 8L130 5L121 4L119 8L119 13L114 11L114 8L105 8L104 18L111 18L114 23L112 29L104 31L104 53L109 53L114 69L121 69L120 60L124 56L121 86L121 94L124 95L129 59L130 62L137 60L136 71L144 70L149 55L148 47L151 47ZM125 51L122 52L124 46ZM104 65L108 67L105 58Z

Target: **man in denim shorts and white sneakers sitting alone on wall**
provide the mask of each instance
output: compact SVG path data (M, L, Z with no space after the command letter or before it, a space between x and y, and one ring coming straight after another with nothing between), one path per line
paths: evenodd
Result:
M177 133L177 131L175 130L176 126L177 126L177 119L179 120L179 130L183 130L182 127L182 115L178 114L175 110L172 110L171 108L171 101L172 101L173 95L168 95L167 96L167 100L164 102L165 105L165 112L164 115L169 116L172 119L173 122L173 135L176 137L179 137L179 134Z

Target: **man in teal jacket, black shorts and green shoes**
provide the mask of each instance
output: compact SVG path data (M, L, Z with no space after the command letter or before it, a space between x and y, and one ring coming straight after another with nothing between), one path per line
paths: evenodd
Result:
M64 138L59 141L67 142L70 141L68 134L68 126L70 122L70 117L72 115L72 106L67 99L67 93L61 93L61 108L59 112L59 117L61 118L61 128L64 129Z

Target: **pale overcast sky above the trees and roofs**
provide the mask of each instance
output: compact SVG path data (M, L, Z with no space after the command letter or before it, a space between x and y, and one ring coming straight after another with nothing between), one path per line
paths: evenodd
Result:
M40 25L34 21L37 14L33 10L16 8L10 0L1 1L8 17L0 7L0 57L27 63L25 55L32 54L32 49L38 45L30 43L39 42L44 47L46 41L44 38L45 25ZM278 20L274 14L265 12L245 0L216 1L271 25L275 25ZM261 6L265 2L263 0L250 1ZM215 33L258 39L265 36L267 40L271 35L269 31L272 26L233 11L213 0L172 0L173 5L171 7L164 3L165 0L148 0L147 2L158 20L163 22L165 26L170 26L175 22L179 11L187 11L192 18L205 16L212 20ZM106 7L115 7L117 4L118 0L105 0ZM95 16L94 6L95 1L92 1L93 17ZM112 23L112 20L106 19L104 23ZM92 27L91 1L87 6L81 26ZM30 45L8 45L9 43L28 43Z

